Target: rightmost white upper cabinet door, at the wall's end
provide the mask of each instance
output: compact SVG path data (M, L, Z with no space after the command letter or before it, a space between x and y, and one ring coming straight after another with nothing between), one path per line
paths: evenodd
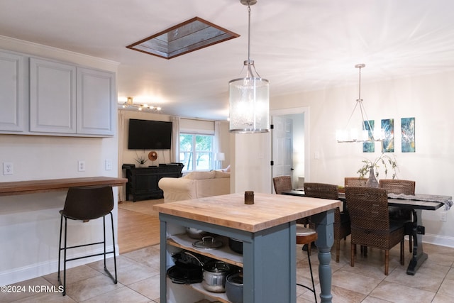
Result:
M114 135L115 74L77 68L77 133Z

